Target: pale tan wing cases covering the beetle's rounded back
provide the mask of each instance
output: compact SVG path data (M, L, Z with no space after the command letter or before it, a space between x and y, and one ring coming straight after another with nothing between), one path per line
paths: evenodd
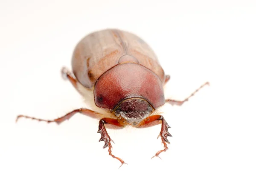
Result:
M73 53L73 73L84 87L93 88L103 73L123 63L125 55L132 57L128 61L145 66L164 82L164 71L148 44L134 34L117 29L96 31L84 37Z

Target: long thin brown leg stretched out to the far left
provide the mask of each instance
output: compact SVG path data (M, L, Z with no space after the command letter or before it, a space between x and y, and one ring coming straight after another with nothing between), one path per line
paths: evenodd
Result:
M69 113L67 113L66 115L60 117L60 118L57 118L55 120L42 120L42 119L38 119L38 118L35 118L35 117L29 117L29 116L24 116L24 115L18 115L17 116L17 119L16 119L16 122L18 121L18 119L20 117L26 117L26 118L29 118L29 119L32 119L32 120L39 120L39 121L46 121L48 123L52 123L52 122L56 122L58 124L62 123L64 120L68 120L70 119L70 117L72 117L74 114L76 113L81 113L81 114L84 114L86 116L89 116L89 117L92 117L92 118L97 118L97 115L99 115L99 113L95 112L95 111L92 111L90 109L84 109L84 108L81 108L81 109L75 109L74 111L71 111Z

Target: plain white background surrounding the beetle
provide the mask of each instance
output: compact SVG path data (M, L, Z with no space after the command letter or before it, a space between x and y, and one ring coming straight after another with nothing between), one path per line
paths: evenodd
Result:
M113 154L98 142L98 120L77 114L57 126L17 114L53 119L86 107L62 80L74 46L106 28L131 31L157 54L171 80L166 97L182 107L161 110L171 129L169 150L160 126L109 130ZM1 0L0 179L256 179L255 0Z

